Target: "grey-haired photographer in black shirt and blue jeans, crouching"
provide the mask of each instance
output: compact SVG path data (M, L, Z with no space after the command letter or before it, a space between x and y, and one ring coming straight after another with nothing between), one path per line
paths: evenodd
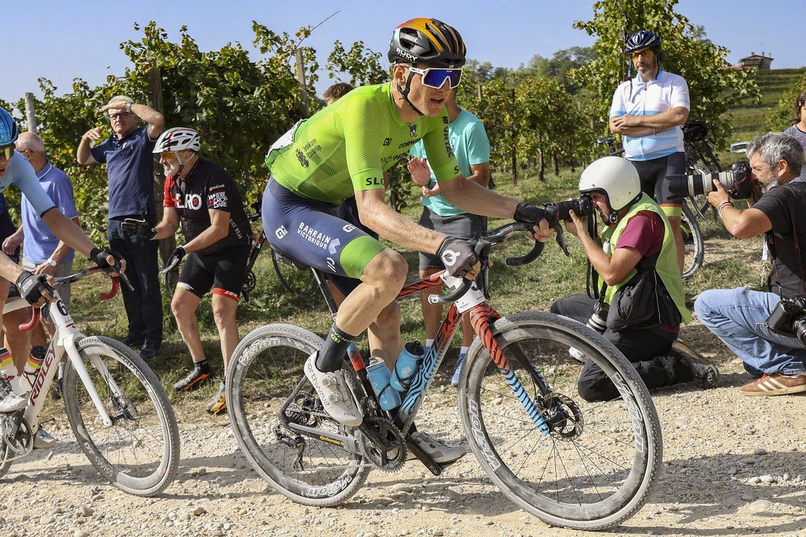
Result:
M694 311L758 378L740 393L794 394L806 391L806 331L799 329L806 301L798 300L806 295L806 183L791 182L800 175L804 153L796 138L768 133L750 143L747 156L754 176L750 209L734 207L718 181L708 202L734 237L764 233L772 257L768 291L704 291Z

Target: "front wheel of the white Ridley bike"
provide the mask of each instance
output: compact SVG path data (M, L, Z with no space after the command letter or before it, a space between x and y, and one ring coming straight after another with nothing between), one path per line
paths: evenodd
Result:
M78 444L98 472L118 489L154 496L170 485L179 465L179 428L168 395L143 358L110 337L77 344L101 403L98 408L73 362L64 369L64 408Z

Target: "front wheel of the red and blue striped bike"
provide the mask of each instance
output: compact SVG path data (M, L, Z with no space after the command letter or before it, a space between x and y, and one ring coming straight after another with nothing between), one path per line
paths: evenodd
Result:
M476 339L459 382L463 426L484 471L513 502L555 526L601 530L632 516L663 457L658 415L634 366L600 334L550 313L505 317L492 333L511 373L501 374ZM584 400L582 364L569 350L600 366L621 399ZM512 374L549 423L546 436L510 387Z

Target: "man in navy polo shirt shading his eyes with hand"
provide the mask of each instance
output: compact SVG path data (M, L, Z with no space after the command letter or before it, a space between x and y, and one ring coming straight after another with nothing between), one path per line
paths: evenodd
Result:
M123 343L143 345L140 356L150 358L162 345L162 297L157 264L158 244L136 235L127 235L120 228L124 219L142 217L156 225L154 204L154 158L156 138L162 134L162 114L146 105L135 103L131 97L112 97L102 107L109 114L114 134L95 147L91 143L102 139L105 126L88 130L81 136L78 163L106 163L109 178L110 248L123 254L129 267L134 291L125 286L123 304L129 320L129 333ZM138 126L139 120L146 126Z

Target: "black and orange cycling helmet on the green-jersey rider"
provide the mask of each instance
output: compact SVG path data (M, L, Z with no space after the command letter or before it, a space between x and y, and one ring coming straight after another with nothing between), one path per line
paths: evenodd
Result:
M464 65L466 54L459 31L440 20L420 17L395 28L386 56L393 64L459 68Z

